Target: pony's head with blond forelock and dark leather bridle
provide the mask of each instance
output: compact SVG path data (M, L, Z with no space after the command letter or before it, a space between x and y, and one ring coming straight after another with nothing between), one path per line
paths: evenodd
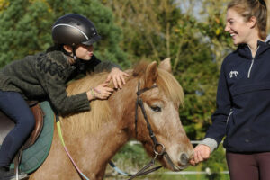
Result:
M170 60L162 61L158 67L157 62L141 63L134 68L128 86L133 86L130 89L129 107L134 113L136 111L138 113L136 122L132 118L136 115L126 112L127 118L132 119L131 135L142 143L152 157L155 156L154 151L161 152L164 146L165 154L157 157L163 166L173 171L184 169L193 156L193 146L180 121L178 110L180 105L184 105L184 93L181 85L171 74ZM139 105L136 108L132 96L141 100L143 108L139 108ZM155 140L149 135L148 126L155 134L157 142L161 144L156 148Z

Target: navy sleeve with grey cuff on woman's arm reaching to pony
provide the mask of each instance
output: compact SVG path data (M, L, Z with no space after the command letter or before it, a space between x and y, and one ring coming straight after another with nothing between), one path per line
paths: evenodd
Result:
M229 116L231 108L231 96L229 94L229 86L226 81L224 62L220 70L220 80L216 100L217 110L211 116L211 127L209 128L209 130L207 130L205 139L202 141L202 144L211 147L211 151L218 147L220 141L225 136L227 118Z

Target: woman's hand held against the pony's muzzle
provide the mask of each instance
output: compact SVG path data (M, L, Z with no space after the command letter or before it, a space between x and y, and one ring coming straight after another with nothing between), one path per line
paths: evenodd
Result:
M211 154L210 147L203 144L199 144L198 146L196 146L196 148L194 148L194 156L189 161L189 163L195 166L196 164L208 159L210 157L210 154Z

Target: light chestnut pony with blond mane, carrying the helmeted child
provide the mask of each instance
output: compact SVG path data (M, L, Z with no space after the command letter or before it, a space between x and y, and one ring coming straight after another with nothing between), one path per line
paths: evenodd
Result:
M193 146L182 127L178 108L184 103L182 87L170 73L170 61L140 63L129 73L127 84L106 101L90 103L91 111L61 117L66 147L76 165L91 180L103 179L106 166L116 152L130 139L139 140L150 157L154 157L154 142L149 136L143 112L138 109L135 123L136 99L139 94L149 124L167 157L159 156L162 166L180 171L193 156ZM102 83L107 73L85 76L67 86L69 95L89 90ZM55 130L49 157L30 179L81 179L68 159ZM156 147L160 148L160 147ZM169 159L168 159L169 157Z

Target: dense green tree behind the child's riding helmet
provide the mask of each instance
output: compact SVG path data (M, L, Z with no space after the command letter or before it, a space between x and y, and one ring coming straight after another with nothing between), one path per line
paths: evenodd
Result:
M95 45L98 58L129 67L119 48L121 29L113 23L112 11L98 0L16 0L0 14L0 67L10 61L44 51L52 45L51 27L64 14L82 14L94 22L103 37Z

